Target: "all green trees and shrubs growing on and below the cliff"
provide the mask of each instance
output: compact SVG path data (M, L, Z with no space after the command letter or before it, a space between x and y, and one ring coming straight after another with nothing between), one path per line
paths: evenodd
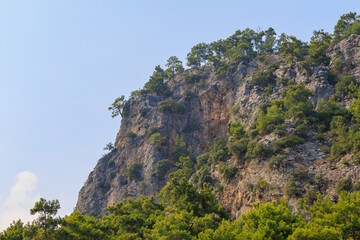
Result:
M341 16L333 34L315 31L309 44L286 34L276 37L272 28L262 32L238 30L225 40L194 46L187 55L187 65L197 69L213 66L216 79L221 80L234 73L241 61L266 59L269 53L279 52L287 63L300 61L301 68L309 73L312 64L329 67L327 49L351 34L360 34L360 17L356 13ZM337 201L323 197L314 188L298 199L297 213L291 211L286 199L280 199L256 203L253 209L231 220L214 195L215 182L211 176L211 169L217 167L225 182L234 179L238 169L225 164L229 158L268 160L272 170L279 170L286 161L284 150L304 143L311 137L309 133L320 142L331 143L330 161L352 154L353 164L359 164L360 85L348 73L353 64L340 58L334 61L329 82L336 93L327 100L319 100L316 110L309 102L312 93L304 85L276 79L274 71L278 66L272 65L252 76L250 87L272 91L271 87L282 86L286 90L283 98L263 103L256 123L248 130L239 121L231 123L228 138L215 138L209 152L196 159L189 156L186 144L177 136L169 159L155 164L154 176L169 182L160 191L158 201L154 197L128 198L108 207L109 215L100 219L77 211L57 218L58 201L40 199L30 210L38 218L29 223L13 222L0 233L0 239L359 239L360 187L350 179L336 185ZM161 96L164 101L159 102L159 111L183 113L186 108L170 97L167 83L183 74L184 68L175 56L169 58L166 67L164 70L157 66L144 88L134 91L130 100ZM200 84L205 78L202 74L184 74L188 84ZM187 99L190 101L191 96ZM340 104L345 99L351 99L349 109ZM117 98L109 110L113 117L126 115L129 111L124 96ZM293 125L290 130L289 121ZM156 147L161 147L166 139L156 130L148 134ZM276 136L272 145L257 141L268 134ZM132 164L127 170L129 180L141 179L142 167ZM298 197L301 194L297 182L306 179L306 171L295 169L291 175L283 192L287 197ZM249 190L262 192L268 187L269 183L259 180Z

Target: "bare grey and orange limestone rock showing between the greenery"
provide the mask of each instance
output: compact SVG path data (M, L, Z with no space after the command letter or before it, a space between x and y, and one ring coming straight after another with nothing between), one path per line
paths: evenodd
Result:
M360 81L359 49L360 36L351 35L329 48L330 67L312 65L310 72L302 70L299 62L286 64L279 53L270 55L266 61L253 59L240 62L233 74L222 79L216 77L212 66L188 69L168 82L170 96L167 97L186 106L186 110L179 113L159 111L158 103L166 99L164 96L147 95L129 100L116 136L115 149L103 156L90 173L80 190L76 209L85 215L104 215L107 206L126 197L156 196L167 179L155 178L154 166L159 160L170 158L177 135L182 137L190 155L195 158L209 149L214 137L226 137L230 123L240 121L249 129L256 121L259 105L267 100L281 98L284 90L276 85L271 93L265 94L262 87L250 88L249 81L255 73L277 64L277 79L286 77L305 84L314 93L310 101L316 107L319 99L329 98L335 93L328 76L329 68L333 67L336 58L353 63L354 67L349 74ZM206 77L194 84L185 80L186 74L202 74ZM349 106L349 103L344 103L344 106ZM163 144L157 145L149 140L148 131L151 127L156 127L160 135L166 138ZM290 129L291 123L287 127ZM271 146L274 139L276 137L269 134L257 140ZM253 202L270 201L283 196L282 189L290 179L291 171L300 167L321 182L319 187L329 195L335 194L334 186L340 179L351 177L354 181L359 180L357 167L346 165L343 161L336 164L326 161L327 155L323 149L327 144L319 142L309 133L304 144L285 149L287 157L282 171L269 169L269 159L261 162L229 159L225 164L235 165L239 171L227 182L221 178L217 166L213 166L212 177L223 186L223 190L218 193L220 203L233 217L237 217L248 210ZM351 157L346 156L348 159ZM127 176L127 169L134 163L142 165L139 179L129 179ZM266 180L271 187L263 192L249 191L249 185L259 179ZM307 189L306 185L302 187L304 191ZM295 200L290 200L290 204L296 207Z

